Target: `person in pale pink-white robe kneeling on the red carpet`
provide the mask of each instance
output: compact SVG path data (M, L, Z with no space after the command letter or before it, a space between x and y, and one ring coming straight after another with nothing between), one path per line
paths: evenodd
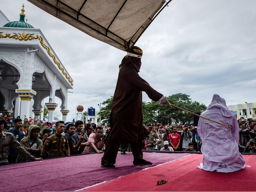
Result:
M204 159L198 168L223 173L245 168L245 160L238 150L239 126L236 115L226 108L226 101L214 94L201 116L231 126L232 129L204 118L199 119L197 131L202 139Z

